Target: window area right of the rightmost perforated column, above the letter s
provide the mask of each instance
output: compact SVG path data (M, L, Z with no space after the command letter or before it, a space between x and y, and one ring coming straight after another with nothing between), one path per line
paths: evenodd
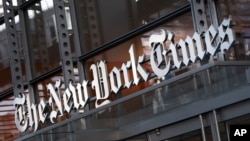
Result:
M250 1L219 0L221 19L230 16L236 33L236 47L226 54L227 60L250 60Z

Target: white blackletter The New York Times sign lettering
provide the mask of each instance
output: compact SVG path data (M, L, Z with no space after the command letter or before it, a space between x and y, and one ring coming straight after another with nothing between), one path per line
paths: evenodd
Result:
M157 77L163 77L170 72L170 68L180 69L197 60L204 60L205 56L214 56L218 52L227 51L235 41L234 31L231 28L231 19L225 19L218 28L213 25L203 34L194 33L186 39L174 43L174 35L171 32L161 30L160 34L151 35L149 43L151 46L150 64L153 73ZM166 42L170 45L166 47ZM179 55L182 53L182 56ZM36 131L40 123L49 119L55 123L55 119L64 113L83 110L90 98L89 89L93 89L96 95L95 107L108 104L111 94L117 94L121 89L129 89L142 81L148 81L151 75L142 64L146 62L144 55L135 56L134 45L128 50L130 60L124 62L120 68L114 67L107 72L105 61L97 62L90 66L93 80L83 80L81 83L69 83L63 93L61 92L61 81L56 84L47 84L47 92L50 95L48 101L41 99L38 104L32 103L29 94L18 94L15 98L15 123L20 132L29 127ZM172 54L171 57L168 54ZM173 63L170 63L173 60ZM129 74L133 74L130 77ZM49 104L46 104L49 103ZM48 112L45 109L51 109Z

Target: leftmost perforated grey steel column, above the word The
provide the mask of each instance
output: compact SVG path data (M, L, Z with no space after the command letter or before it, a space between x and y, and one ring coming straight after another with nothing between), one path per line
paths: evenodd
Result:
M21 59L19 55L19 44L15 25L14 7L12 0L3 0L4 20L8 38L8 54L13 83L14 96L24 92L22 80Z

